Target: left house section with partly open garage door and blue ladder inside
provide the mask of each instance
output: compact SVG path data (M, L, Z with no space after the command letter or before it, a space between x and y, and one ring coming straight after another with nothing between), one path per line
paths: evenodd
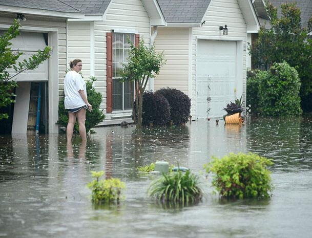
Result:
M34 132L37 98L41 89L40 127L45 133L58 133L58 81L64 78L67 57L67 19L84 17L79 10L58 0L1 0L0 34L6 31L14 19L19 19L20 35L12 40L12 51L23 52L20 59L28 58L52 48L48 61L39 68L14 78L17 81L16 103L6 110L10 120L2 120L2 133L26 134ZM4 131L6 128L8 130Z

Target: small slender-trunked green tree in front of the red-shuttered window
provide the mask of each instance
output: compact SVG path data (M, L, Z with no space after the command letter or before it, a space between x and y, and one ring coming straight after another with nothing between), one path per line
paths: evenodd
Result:
M141 128L142 126L142 107L143 107L143 93L150 78L159 74L160 68L165 63L163 53L156 53L155 47L148 48L144 45L144 40L140 39L139 47L136 48L129 40L130 44L129 57L127 63L122 64L122 81L129 81L132 115L135 126ZM134 89L133 89L134 83ZM134 95L138 103L134 104Z

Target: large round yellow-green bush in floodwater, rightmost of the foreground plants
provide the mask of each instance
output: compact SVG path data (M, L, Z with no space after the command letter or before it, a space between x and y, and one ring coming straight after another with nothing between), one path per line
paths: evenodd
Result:
M213 186L221 198L268 198L273 186L268 165L273 162L256 154L238 153L221 159L212 157L209 164L204 164L206 172L212 172Z

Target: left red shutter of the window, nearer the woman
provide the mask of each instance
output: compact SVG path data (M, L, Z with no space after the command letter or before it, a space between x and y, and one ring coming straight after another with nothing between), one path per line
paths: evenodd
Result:
M113 33L106 33L106 112L113 111Z

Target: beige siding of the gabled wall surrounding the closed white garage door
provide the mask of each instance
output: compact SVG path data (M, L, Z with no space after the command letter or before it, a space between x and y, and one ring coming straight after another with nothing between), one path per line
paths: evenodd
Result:
M212 0L207 9L202 27L193 28L193 53L192 53L192 112L195 115L196 100L196 49L198 37L219 37L220 40L226 38L242 38L243 46L246 46L246 23L236 0ZM219 26L227 25L228 35L223 35ZM243 98L246 93L246 51L243 51Z

